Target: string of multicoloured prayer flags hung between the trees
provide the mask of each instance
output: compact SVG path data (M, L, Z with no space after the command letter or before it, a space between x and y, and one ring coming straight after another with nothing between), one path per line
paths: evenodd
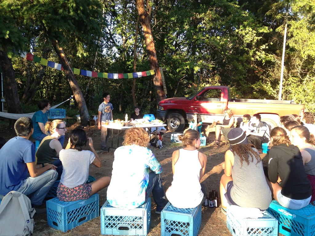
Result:
M32 53L22 52L20 53L20 56L25 58L29 61L37 62L41 65L46 65L51 68L54 68L56 70L62 70L64 71L63 67L59 63L55 63L53 61L49 61L47 59L37 57L33 55ZM88 77L95 77L95 78L107 78L107 79L132 79L132 78L140 78L144 76L150 76L154 75L154 70L147 70L147 71L141 71L141 72L133 72L133 73L105 73L105 72L96 72L96 71L90 71L90 70L81 70L78 68L71 68L73 71L73 74L75 75L82 75L82 76L88 76Z

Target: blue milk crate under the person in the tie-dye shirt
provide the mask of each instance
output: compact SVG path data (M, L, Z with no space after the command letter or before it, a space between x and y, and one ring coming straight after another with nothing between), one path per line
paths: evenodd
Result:
M151 199L134 209L117 208L108 201L100 209L100 232L110 235L147 235L151 224Z

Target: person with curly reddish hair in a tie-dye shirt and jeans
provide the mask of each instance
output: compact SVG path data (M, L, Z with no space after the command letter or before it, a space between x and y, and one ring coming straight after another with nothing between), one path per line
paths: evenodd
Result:
M160 177L163 169L148 144L149 135L143 128L132 127L125 132L123 146L114 152L112 179L107 188L107 200L113 207L136 208L152 192L155 213L161 214L167 203Z

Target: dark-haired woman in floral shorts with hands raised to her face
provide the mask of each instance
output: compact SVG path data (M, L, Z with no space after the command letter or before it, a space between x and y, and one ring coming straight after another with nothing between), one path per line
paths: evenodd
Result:
M83 146L89 142L89 150L83 150ZM83 129L74 129L70 133L69 142L66 149L59 153L62 161L63 172L57 188L57 197L60 201L77 201L88 199L93 194L107 187L111 177L101 177L89 184L89 166L102 166L102 160L97 155L92 138L86 137Z

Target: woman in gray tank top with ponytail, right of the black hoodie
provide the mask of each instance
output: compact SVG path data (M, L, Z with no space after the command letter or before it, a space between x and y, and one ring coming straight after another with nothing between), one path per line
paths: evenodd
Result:
M305 172L312 186L311 202L315 201L315 138L305 126L295 126L290 132L290 141L302 154Z

